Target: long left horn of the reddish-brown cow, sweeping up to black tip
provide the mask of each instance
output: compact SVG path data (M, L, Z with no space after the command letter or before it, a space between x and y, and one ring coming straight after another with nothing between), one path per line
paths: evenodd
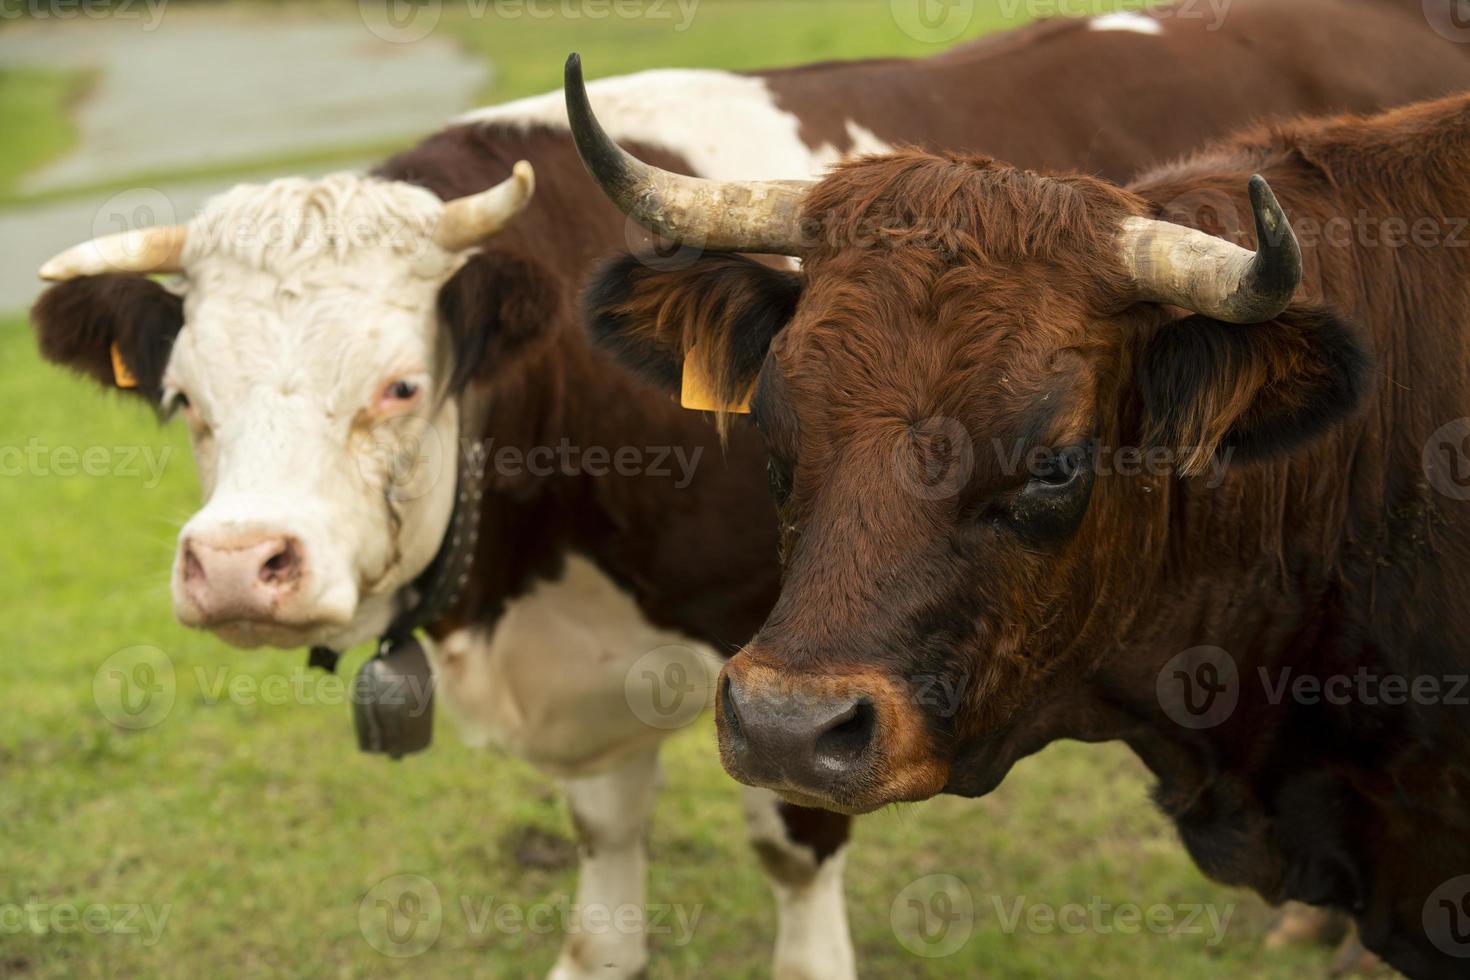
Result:
M582 165L635 222L710 251L801 251L801 201L811 181L704 181L648 166L623 151L592 115L582 59L566 59L566 115Z

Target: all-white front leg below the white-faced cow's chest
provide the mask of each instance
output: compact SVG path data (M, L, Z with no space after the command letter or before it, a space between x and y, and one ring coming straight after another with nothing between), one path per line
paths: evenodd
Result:
M620 980L648 964L644 939L647 830L659 751L639 752L600 776L566 779L581 865L576 905L551 980Z

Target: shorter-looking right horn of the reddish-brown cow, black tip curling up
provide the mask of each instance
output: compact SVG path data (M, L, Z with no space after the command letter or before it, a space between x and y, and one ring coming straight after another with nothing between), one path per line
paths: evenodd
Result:
M1138 298L1226 323L1263 323L1285 310L1301 285L1301 245L1266 178L1252 176L1250 190L1257 251L1172 222L1126 219L1119 248Z

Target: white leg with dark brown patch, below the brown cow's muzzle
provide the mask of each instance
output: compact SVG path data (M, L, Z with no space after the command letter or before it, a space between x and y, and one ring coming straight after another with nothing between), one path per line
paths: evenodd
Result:
M842 895L851 817L742 789L750 845L776 893L776 980L856 977Z

